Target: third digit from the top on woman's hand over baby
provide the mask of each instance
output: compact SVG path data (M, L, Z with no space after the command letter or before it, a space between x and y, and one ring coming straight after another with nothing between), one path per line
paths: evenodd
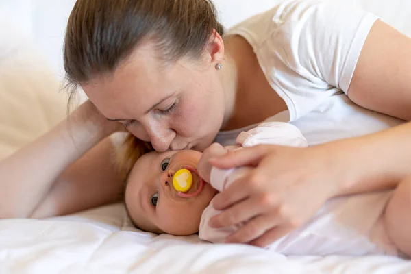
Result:
M209 224L211 227L216 228L239 225L242 222L249 221L253 217L258 216L263 210L264 207L260 206L258 197L248 197L214 216Z

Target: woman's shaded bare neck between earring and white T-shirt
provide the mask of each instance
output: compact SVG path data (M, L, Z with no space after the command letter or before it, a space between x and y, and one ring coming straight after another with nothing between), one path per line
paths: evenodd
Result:
M260 123L283 110L284 100L267 81L256 54L247 40L232 36L225 40L225 119L222 130Z

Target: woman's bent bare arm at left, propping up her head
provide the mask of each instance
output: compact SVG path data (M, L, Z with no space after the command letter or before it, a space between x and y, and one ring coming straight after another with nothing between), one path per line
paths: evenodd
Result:
M120 177L108 164L108 140L101 142L111 132L114 126L107 127L86 102L50 132L2 160L0 219L54 216L113 201L108 189L119 186Z

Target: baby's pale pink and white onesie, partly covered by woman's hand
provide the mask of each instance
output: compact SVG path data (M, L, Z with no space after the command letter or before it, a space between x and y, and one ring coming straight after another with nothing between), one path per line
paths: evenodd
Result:
M236 139L240 147L258 144L306 147L307 141L297 127L289 123L262 123ZM213 168L210 184L220 192L247 172L247 167L221 170ZM330 199L306 224L266 247L284 255L399 255L388 238L382 214L393 190L384 190ZM201 216L199 238L209 242L224 242L240 228L215 229L208 221L219 214L210 205Z

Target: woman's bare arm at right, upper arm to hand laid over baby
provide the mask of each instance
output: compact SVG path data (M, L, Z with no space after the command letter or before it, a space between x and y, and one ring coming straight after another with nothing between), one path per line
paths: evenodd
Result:
M376 21L347 95L364 108L410 121L410 75L411 39ZM210 225L245 222L227 241L264 247L308 221L331 197L394 188L411 173L410 162L411 123L304 149L260 145L232 151L211 164L255 169L216 195L213 206L224 212Z

